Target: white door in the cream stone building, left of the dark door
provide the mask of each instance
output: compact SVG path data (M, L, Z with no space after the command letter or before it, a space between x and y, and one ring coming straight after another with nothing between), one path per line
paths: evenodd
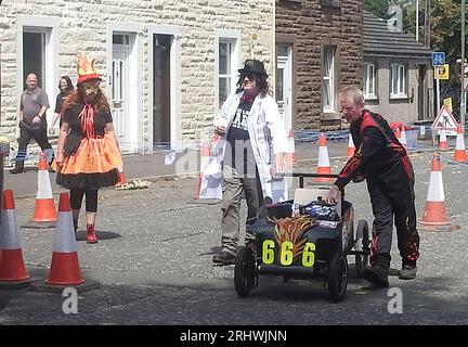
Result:
M114 130L121 152L130 151L129 127L129 79L128 61L130 48L126 44L114 44L112 61L112 107Z

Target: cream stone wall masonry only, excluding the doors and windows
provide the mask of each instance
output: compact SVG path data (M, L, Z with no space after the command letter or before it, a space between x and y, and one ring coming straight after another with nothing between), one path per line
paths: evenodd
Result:
M148 35L150 25L174 25L180 28L180 114L182 140L195 140L211 129L214 110L214 29L242 33L242 60L250 57L250 40L255 57L272 73L273 4L271 0L5 0L1 4L1 124L0 133L14 138L17 119L18 87L16 82L16 36L18 16L46 16L58 21L57 78L76 76L74 54L89 52L106 83L107 27L109 23L140 25L141 44L141 115L143 125L139 141L147 140L148 123ZM74 79L76 80L76 78ZM56 87L58 80L54 81ZM57 89L53 90L56 94ZM55 94L49 95L51 108ZM53 111L49 110L49 118Z

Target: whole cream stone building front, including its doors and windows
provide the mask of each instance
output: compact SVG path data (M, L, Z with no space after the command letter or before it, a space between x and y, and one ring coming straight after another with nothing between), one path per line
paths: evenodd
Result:
M1 130L17 131L18 97L35 72L52 118L74 55L96 60L127 153L179 147L211 133L245 59L274 78L271 0L4 0L0 5Z

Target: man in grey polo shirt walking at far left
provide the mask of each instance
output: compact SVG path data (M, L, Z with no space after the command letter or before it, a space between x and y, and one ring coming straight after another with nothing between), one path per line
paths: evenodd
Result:
M46 153L49 164L52 163L54 154L47 136L46 111L49 108L49 98L41 88L38 87L37 76L29 74L26 77L26 90L21 95L20 102L20 139L18 152L15 158L15 167L11 174L24 172L24 160L26 151L31 138Z

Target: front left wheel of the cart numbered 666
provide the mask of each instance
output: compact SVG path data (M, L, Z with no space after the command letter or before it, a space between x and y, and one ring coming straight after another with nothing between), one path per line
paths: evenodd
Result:
M234 286L237 295L246 297L255 286L256 266L253 253L250 248L242 247L235 259Z

